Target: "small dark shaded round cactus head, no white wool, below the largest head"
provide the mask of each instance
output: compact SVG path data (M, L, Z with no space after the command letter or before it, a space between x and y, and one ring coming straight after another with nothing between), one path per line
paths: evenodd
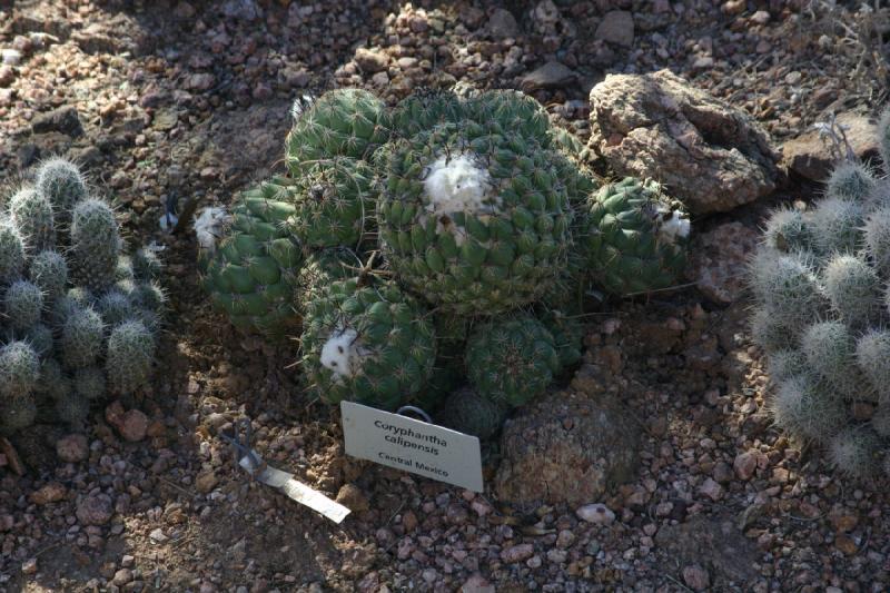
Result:
M560 372L553 336L525 314L476 326L467 340L465 364L481 396L512 407L543 394Z

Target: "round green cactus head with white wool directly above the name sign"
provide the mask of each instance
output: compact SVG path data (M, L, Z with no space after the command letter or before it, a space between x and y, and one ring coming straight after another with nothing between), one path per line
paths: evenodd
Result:
M395 409L426 384L435 360L427 312L395 283L334 281L309 303L301 365L309 393Z

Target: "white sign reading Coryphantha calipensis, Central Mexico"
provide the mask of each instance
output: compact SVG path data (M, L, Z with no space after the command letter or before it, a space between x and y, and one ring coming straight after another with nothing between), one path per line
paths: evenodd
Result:
M479 439L443 426L340 402L346 454L482 492Z

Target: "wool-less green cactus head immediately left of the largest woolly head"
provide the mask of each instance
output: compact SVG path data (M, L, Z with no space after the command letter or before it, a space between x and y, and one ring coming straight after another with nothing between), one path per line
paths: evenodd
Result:
M368 165L350 158L305 167L291 194L296 211L288 228L308 247L356 247L376 233L373 175Z

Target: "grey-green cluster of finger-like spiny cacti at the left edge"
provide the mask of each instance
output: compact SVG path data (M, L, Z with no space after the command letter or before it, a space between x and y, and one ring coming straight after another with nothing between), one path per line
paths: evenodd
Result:
M0 434L78 428L92 402L148 383L164 293L154 249L123 255L117 217L53 158L0 200Z

